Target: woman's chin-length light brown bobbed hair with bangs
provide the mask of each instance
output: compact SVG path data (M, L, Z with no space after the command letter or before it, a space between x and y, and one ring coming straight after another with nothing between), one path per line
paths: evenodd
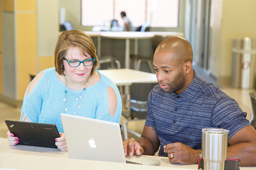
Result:
M95 68L98 66L99 61L96 55L96 49L93 44L93 40L85 34L83 31L70 30L64 31L58 38L54 53L55 70L59 75L64 75L64 70L61 69L61 64L67 53L67 49L70 47L77 47L81 51L81 54L87 56L87 52L92 58L95 58L93 68L90 75L94 74Z

